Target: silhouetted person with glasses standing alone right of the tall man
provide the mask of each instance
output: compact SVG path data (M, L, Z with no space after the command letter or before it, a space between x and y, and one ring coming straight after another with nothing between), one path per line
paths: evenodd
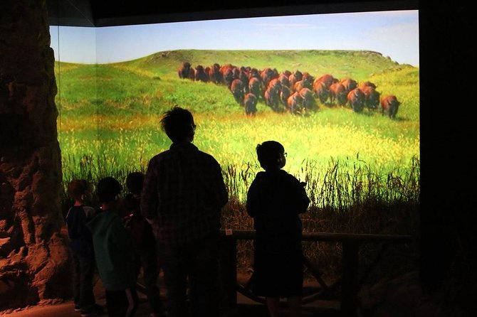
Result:
M303 296L303 250L300 213L310 199L304 183L283 171L286 153L277 141L256 147L258 172L248 188L247 213L253 217L253 292L266 298L271 317L278 316L280 299L286 298L290 316L300 316Z

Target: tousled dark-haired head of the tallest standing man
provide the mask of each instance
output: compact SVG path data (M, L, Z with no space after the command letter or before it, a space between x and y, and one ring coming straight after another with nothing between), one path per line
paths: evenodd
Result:
M165 112L161 119L161 127L174 143L194 140L196 125L192 113L187 109L175 106Z

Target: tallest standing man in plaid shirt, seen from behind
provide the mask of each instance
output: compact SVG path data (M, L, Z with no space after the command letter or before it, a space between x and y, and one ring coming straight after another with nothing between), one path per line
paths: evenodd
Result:
M151 223L162 259L170 317L218 316L219 229L228 201L221 166L192 144L196 125L187 109L164 113L162 129L172 145L147 167L141 213Z

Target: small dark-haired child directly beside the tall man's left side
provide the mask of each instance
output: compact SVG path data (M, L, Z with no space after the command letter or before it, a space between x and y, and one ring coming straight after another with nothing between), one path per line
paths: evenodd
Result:
M135 272L140 274L142 268L143 281L147 301L150 305L151 317L164 316L164 305L159 297L157 276L159 276L159 262L157 258L156 242L152 227L142 216L140 210L141 190L144 174L141 172L129 173L126 177L126 187L129 193L120 204L120 215L125 227L132 235L132 245L135 250Z

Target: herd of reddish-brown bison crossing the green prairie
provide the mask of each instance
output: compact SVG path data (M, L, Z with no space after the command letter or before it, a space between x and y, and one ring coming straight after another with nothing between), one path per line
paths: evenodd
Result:
M382 114L394 119L401 104L394 95L381 96L372 82L358 84L351 78L339 80L330 74L315 78L300 70L278 72L217 63L193 68L189 62L182 63L177 72L179 78L226 85L248 116L256 114L259 101L274 112L307 114L318 110L319 100L328 106L351 107L354 112L362 112L365 107L375 110L380 105Z

